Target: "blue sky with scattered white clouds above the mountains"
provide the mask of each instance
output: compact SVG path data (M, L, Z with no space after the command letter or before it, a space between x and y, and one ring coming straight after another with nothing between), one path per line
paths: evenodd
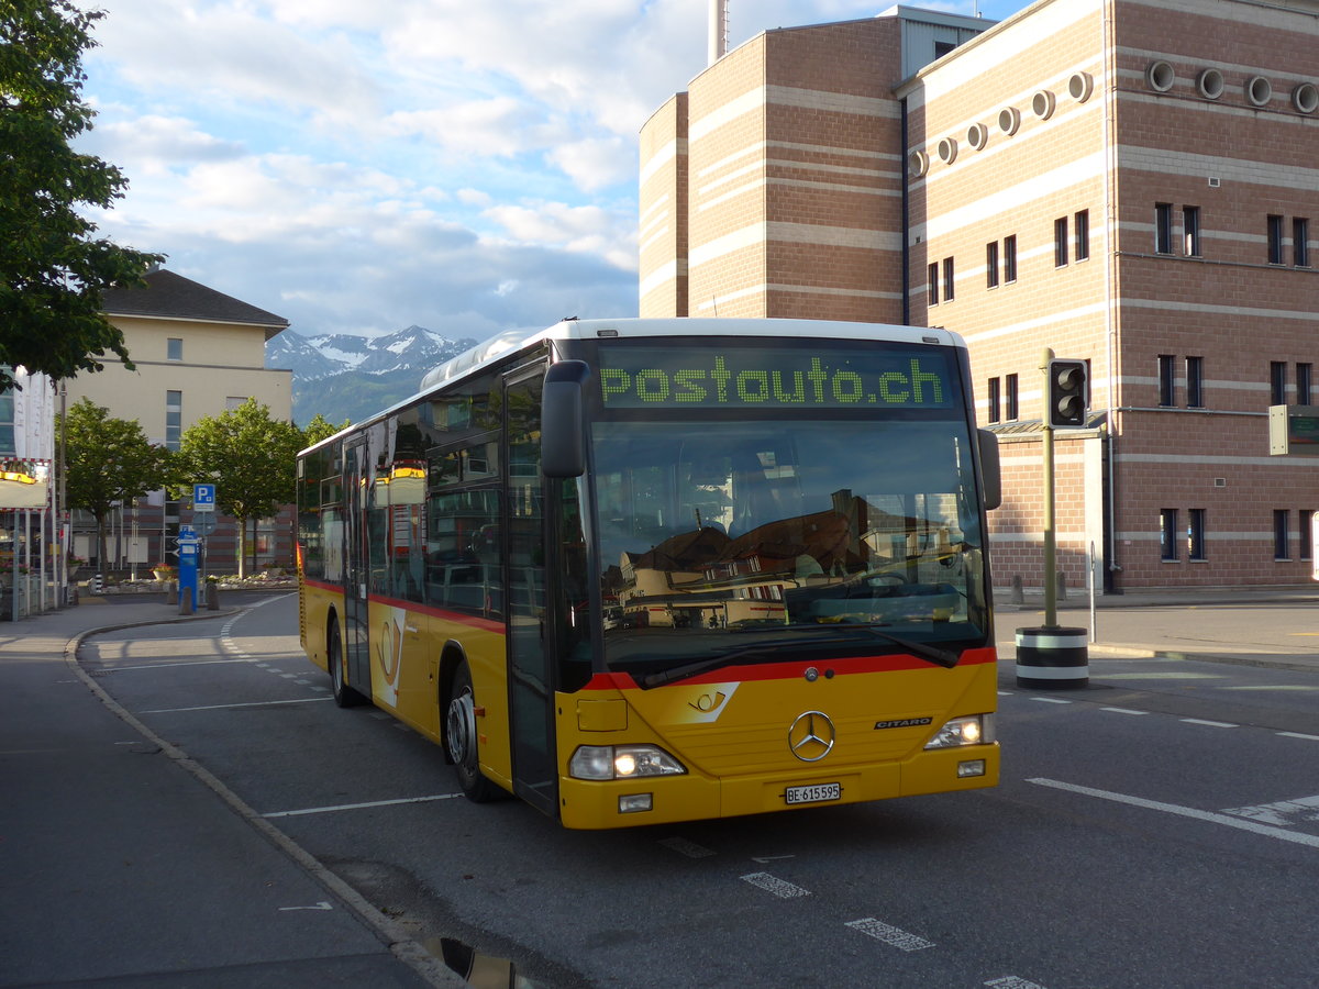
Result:
M102 235L307 336L636 315L637 133L704 67L707 0L98 5ZM729 45L889 5L731 0Z

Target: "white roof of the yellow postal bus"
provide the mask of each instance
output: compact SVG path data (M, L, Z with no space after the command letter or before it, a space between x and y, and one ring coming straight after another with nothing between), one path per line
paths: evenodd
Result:
M765 336L765 338L819 338L838 340L892 340L894 343L943 344L946 347L966 347L962 338L942 327L897 326L892 323L842 323L827 319L692 319L687 316L673 319L563 319L543 330L506 330L468 351L459 353L430 371L421 381L417 394L380 413L353 423L322 443L328 443L347 433L360 429L364 423L383 418L398 409L412 405L421 394L495 364L510 353L533 347L542 340L595 340L601 338L646 338L646 336ZM307 450L314 450L317 443ZM305 452L305 451L303 451Z

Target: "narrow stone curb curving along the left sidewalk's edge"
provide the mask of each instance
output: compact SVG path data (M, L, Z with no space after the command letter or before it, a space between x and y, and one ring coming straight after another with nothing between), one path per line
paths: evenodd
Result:
M274 599L270 599L274 600ZM173 761L177 766L190 773L197 781L211 790L216 796L219 796L230 810L236 812L243 818L252 828L255 828L262 837L265 837L272 845L274 845L280 852L293 860L299 865L307 874L311 876L317 882L319 882L326 891L336 897L343 902L357 918L367 924L367 927L380 939L381 944L389 948L396 959L412 968L418 976L425 978L430 985L438 989L463 989L468 982L462 978L456 972L448 968L443 960L437 959L418 942L413 940L397 923L394 923L386 914L377 910L365 897L363 897L357 890L348 885L342 877L334 873L328 866L326 866L319 858L306 851L297 841L290 839L282 831L280 831L274 824L270 824L265 818L256 812L247 802L243 800L236 793L230 790L218 777L215 777L210 770L202 766L199 762L194 761L183 749L173 745L171 742L161 738L156 732L142 724L128 708L115 700L106 690L96 683L92 676L82 669L78 662L78 649L82 642L88 636L98 636L107 632L119 632L121 629L142 628L146 625L171 625L183 621L198 621L199 618L215 618L222 616L241 614L252 611L253 608L260 608L260 604L255 604L247 608L233 608L228 612L211 612L207 614L190 614L190 616L174 616L173 618L148 618L145 621L129 621L117 625L103 625L94 629L86 629L79 632L74 638L69 640L65 645L65 663L73 670L74 675L103 703L109 711L123 720L127 725L133 728L138 734L146 738L152 745L160 748L166 758Z

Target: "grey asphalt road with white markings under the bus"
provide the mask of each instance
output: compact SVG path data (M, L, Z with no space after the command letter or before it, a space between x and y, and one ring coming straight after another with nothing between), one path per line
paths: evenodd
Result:
M456 938L537 986L1312 989L1319 972L1306 671L1095 658L1088 690L1043 694L1009 665L996 790L599 833L471 804L434 745L338 709L294 596L98 636L80 658L418 942Z

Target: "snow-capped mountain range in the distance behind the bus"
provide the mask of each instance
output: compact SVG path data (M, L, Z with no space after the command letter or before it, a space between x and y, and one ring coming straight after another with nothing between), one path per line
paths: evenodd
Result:
M474 345L474 339L452 340L421 326L386 336L285 330L266 343L265 365L293 371L293 421L299 426L317 413L334 423L357 422L415 394L431 368Z

